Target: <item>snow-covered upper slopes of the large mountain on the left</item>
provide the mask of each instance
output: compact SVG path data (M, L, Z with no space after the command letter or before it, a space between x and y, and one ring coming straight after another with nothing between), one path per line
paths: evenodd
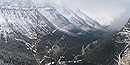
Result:
M37 17L38 16L38 17ZM80 31L103 30L103 27L81 11L74 12L64 5L44 2L35 4L30 0L0 0L0 34L17 33L32 37L36 22L40 21L40 33L55 32L56 30L69 35L78 35Z

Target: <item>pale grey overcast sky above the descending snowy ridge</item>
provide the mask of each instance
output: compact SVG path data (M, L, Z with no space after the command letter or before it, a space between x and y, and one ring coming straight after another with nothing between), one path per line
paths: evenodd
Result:
M57 0L60 1L60 0ZM130 18L130 0L61 0L64 5L78 8L102 25L120 28Z

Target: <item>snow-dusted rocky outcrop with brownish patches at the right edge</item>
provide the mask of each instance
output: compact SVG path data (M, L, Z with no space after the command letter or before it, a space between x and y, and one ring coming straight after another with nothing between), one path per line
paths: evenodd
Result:
M123 26L120 32L117 33L114 40L119 44L125 44L124 48L118 54L118 65L130 64L130 19Z

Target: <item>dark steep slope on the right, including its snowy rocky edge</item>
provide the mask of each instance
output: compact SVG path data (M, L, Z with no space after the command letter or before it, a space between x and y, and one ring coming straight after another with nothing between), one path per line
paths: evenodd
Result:
M123 28L109 40L92 45L84 55L88 64L129 65L130 19ZM127 62L126 62L127 61Z

